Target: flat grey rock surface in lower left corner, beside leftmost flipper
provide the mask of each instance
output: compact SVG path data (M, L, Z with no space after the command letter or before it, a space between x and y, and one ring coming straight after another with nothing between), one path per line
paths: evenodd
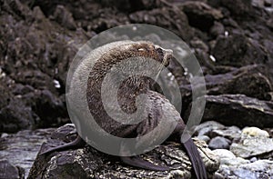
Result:
M8 163L15 165L11 168L14 168L14 174L19 172L20 177L13 177L13 174L10 173L2 173L5 170L2 170L0 166L0 178L25 178L35 161L41 144L46 141L46 138L49 138L54 130L48 128L34 131L24 130L16 134L2 134L0 138L0 158L6 159ZM6 171L9 170L6 169ZM1 174L7 174L6 176L9 177L2 177ZM25 177L22 175L25 175Z

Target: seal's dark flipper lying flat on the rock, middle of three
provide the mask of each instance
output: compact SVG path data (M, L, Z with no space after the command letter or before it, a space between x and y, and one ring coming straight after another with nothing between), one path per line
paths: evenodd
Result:
M167 166L159 166L156 164L149 163L139 156L121 156L121 161L124 164L128 164L131 166L136 166L138 168L147 169L147 170L154 170L154 171L167 171L170 170Z

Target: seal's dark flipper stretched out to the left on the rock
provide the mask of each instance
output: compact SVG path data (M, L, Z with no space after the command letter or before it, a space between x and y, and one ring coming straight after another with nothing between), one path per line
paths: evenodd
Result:
M74 141L72 141L71 143L63 144L63 145L60 145L60 146L50 148L50 149L40 153L39 155L50 154L50 153L57 152L57 151L58 152L66 151L68 149L78 149L78 148L84 147L85 144L86 144L86 142L78 135L76 137L76 139Z

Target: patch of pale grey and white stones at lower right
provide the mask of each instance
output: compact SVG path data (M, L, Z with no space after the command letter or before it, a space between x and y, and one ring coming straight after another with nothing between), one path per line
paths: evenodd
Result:
M220 158L215 178L273 177L273 139L267 131L257 127L240 130L213 121L198 125L195 131L199 139L207 136L208 147Z

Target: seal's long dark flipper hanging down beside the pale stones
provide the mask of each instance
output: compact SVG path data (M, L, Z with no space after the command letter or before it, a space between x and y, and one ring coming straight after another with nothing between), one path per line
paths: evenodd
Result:
M186 148L195 174L197 175L197 179L207 179L205 164L203 163L202 158L197 150L196 144L194 144L191 138L189 138L186 143L182 144Z

